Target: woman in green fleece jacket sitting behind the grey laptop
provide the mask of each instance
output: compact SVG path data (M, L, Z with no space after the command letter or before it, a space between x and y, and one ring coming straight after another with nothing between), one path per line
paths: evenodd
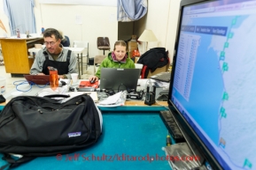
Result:
M135 63L128 57L127 44L125 41L116 41L113 51L100 64L95 76L89 78L89 81L97 81L100 78L101 68L136 68Z

